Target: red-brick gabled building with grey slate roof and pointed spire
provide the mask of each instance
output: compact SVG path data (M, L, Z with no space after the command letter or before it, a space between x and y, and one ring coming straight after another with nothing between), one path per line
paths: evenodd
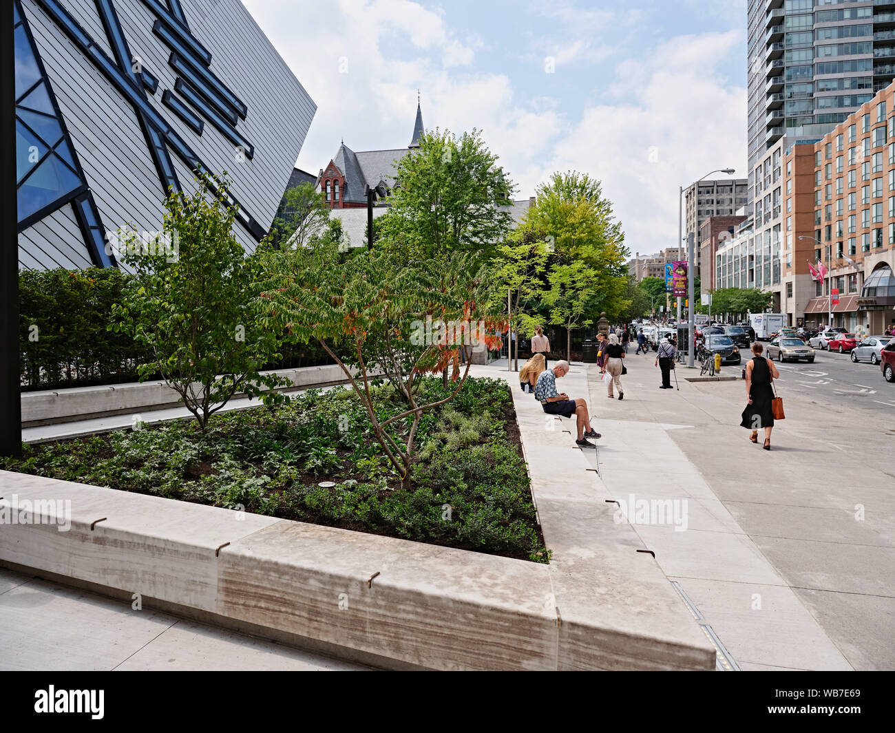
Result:
M345 145L339 145L336 155L328 165L320 168L317 186L326 194L326 200L332 209L360 209L367 206L367 187L390 191L395 186L396 162L404 158L412 149L420 147L420 140L425 134L422 126L422 111L416 105L416 120L413 123L413 134L410 145L406 148L384 150L354 151Z

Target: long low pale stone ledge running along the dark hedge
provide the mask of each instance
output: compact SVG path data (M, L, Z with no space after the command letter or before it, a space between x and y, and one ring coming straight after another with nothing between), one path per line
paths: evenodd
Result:
M264 371L290 380L283 388L327 387L347 381L337 364ZM237 395L241 396L241 395ZM125 384L77 387L23 392L21 424L30 428L56 422L89 420L104 415L140 413L182 405L180 396L164 381L127 382Z

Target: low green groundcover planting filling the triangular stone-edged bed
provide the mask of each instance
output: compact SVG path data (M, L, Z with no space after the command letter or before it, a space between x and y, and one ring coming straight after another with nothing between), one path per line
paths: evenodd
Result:
M405 409L388 383L371 390L379 413ZM447 396L434 377L420 391ZM219 413L204 432L181 420L29 446L0 469L549 561L503 381L467 379L422 416L412 488L372 431L353 389L311 389L288 405Z

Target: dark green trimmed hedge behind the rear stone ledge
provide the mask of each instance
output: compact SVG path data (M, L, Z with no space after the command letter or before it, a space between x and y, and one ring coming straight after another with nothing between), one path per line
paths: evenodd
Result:
M140 345L108 331L112 306L131 276L116 268L22 270L19 273L21 389L58 389L139 380L149 361ZM331 363L317 345L283 344L265 369Z

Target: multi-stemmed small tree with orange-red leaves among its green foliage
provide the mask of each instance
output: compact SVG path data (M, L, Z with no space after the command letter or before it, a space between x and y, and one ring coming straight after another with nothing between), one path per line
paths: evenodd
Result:
M412 482L422 415L456 396L469 374L469 362L460 374L454 345L428 337L427 323L472 325L489 315L492 286L487 272L474 268L473 262L473 254L465 252L438 260L408 260L388 249L340 253L324 239L312 239L294 251L272 252L266 260L269 286L260 300L265 303L268 327L288 328L304 342L315 339L333 358L364 406L405 489ZM445 287L451 278L455 285ZM340 358L337 345L347 347L351 355ZM419 379L447 370L451 363L456 387L445 399L419 403L415 389ZM405 401L399 413L377 413L370 389L376 364L387 369Z

